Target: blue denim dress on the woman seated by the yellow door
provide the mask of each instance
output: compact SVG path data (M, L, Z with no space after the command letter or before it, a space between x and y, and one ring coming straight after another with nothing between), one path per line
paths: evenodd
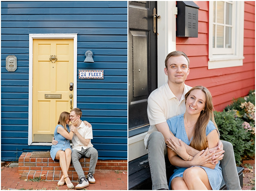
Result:
M58 141L58 144L52 145L50 155L52 157L52 160L54 160L55 162L58 161L57 159L55 159L55 156L59 150L65 151L66 149L70 149L72 151L70 147L70 141L65 137L63 137L62 135L60 135L59 133L57 133L58 127L62 127L64 129L62 125L57 125L54 130L54 140ZM67 129L68 129L68 132L70 132L68 125L67 125Z

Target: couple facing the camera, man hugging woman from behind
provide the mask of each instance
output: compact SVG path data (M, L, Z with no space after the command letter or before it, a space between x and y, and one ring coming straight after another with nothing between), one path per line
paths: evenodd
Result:
M233 146L219 140L211 93L203 86L184 84L189 74L187 55L168 54L164 72L168 81L148 97L150 128L144 143L152 189L219 190L223 177L228 190L241 190ZM165 157L176 166L170 180Z

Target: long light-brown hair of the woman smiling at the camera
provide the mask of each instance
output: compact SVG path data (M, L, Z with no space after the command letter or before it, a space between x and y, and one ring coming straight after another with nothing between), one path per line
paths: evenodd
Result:
M205 93L206 97L206 102L205 102L205 107L204 107L204 112L203 110L201 111L197 121L196 125L194 128L194 135L193 139L190 143L190 146L195 148L198 151L201 151L203 149L206 149L208 147L208 142L206 139L206 127L209 121L211 120L216 127L217 131L218 127L214 121L214 116L213 116L213 103L212 103L212 95L209 92L209 90L204 87L204 86L195 86L191 88L186 94L185 94L185 101L187 102L187 98L193 90L201 90L202 92Z

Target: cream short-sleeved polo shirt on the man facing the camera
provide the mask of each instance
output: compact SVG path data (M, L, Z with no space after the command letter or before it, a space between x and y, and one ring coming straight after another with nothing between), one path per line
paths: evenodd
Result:
M168 81L150 93L148 97L148 120L150 127L148 133L144 138L144 144L147 148L148 137L154 131L157 131L156 124L163 123L167 119L183 114L186 111L185 94L192 87L185 84L183 94L179 101L172 93L168 86Z

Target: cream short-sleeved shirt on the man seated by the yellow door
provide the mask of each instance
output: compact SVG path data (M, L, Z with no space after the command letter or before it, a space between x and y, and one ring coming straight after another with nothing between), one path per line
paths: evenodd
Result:
M84 124L84 122L81 122L80 126L77 128L77 131L85 139L92 139L92 127L88 127L87 125ZM77 151L81 151L82 147L84 148L84 150L87 149L88 147L93 147L91 140L87 146L84 146L80 142L76 134L73 135L72 143L73 143L72 150L76 149Z

